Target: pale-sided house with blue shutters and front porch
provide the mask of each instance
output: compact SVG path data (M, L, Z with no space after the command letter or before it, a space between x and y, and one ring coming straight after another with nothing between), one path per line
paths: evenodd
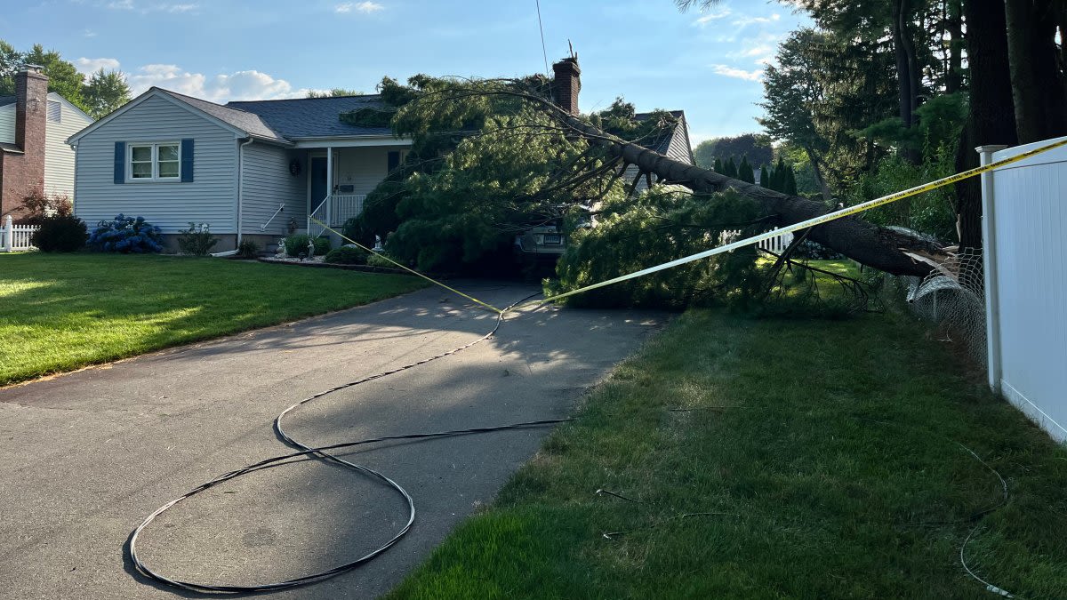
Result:
M69 138L75 214L90 224L142 216L170 250L191 222L210 227L218 251L318 235L313 217L340 227L411 146L339 117L381 106L378 95L219 105L152 88Z

